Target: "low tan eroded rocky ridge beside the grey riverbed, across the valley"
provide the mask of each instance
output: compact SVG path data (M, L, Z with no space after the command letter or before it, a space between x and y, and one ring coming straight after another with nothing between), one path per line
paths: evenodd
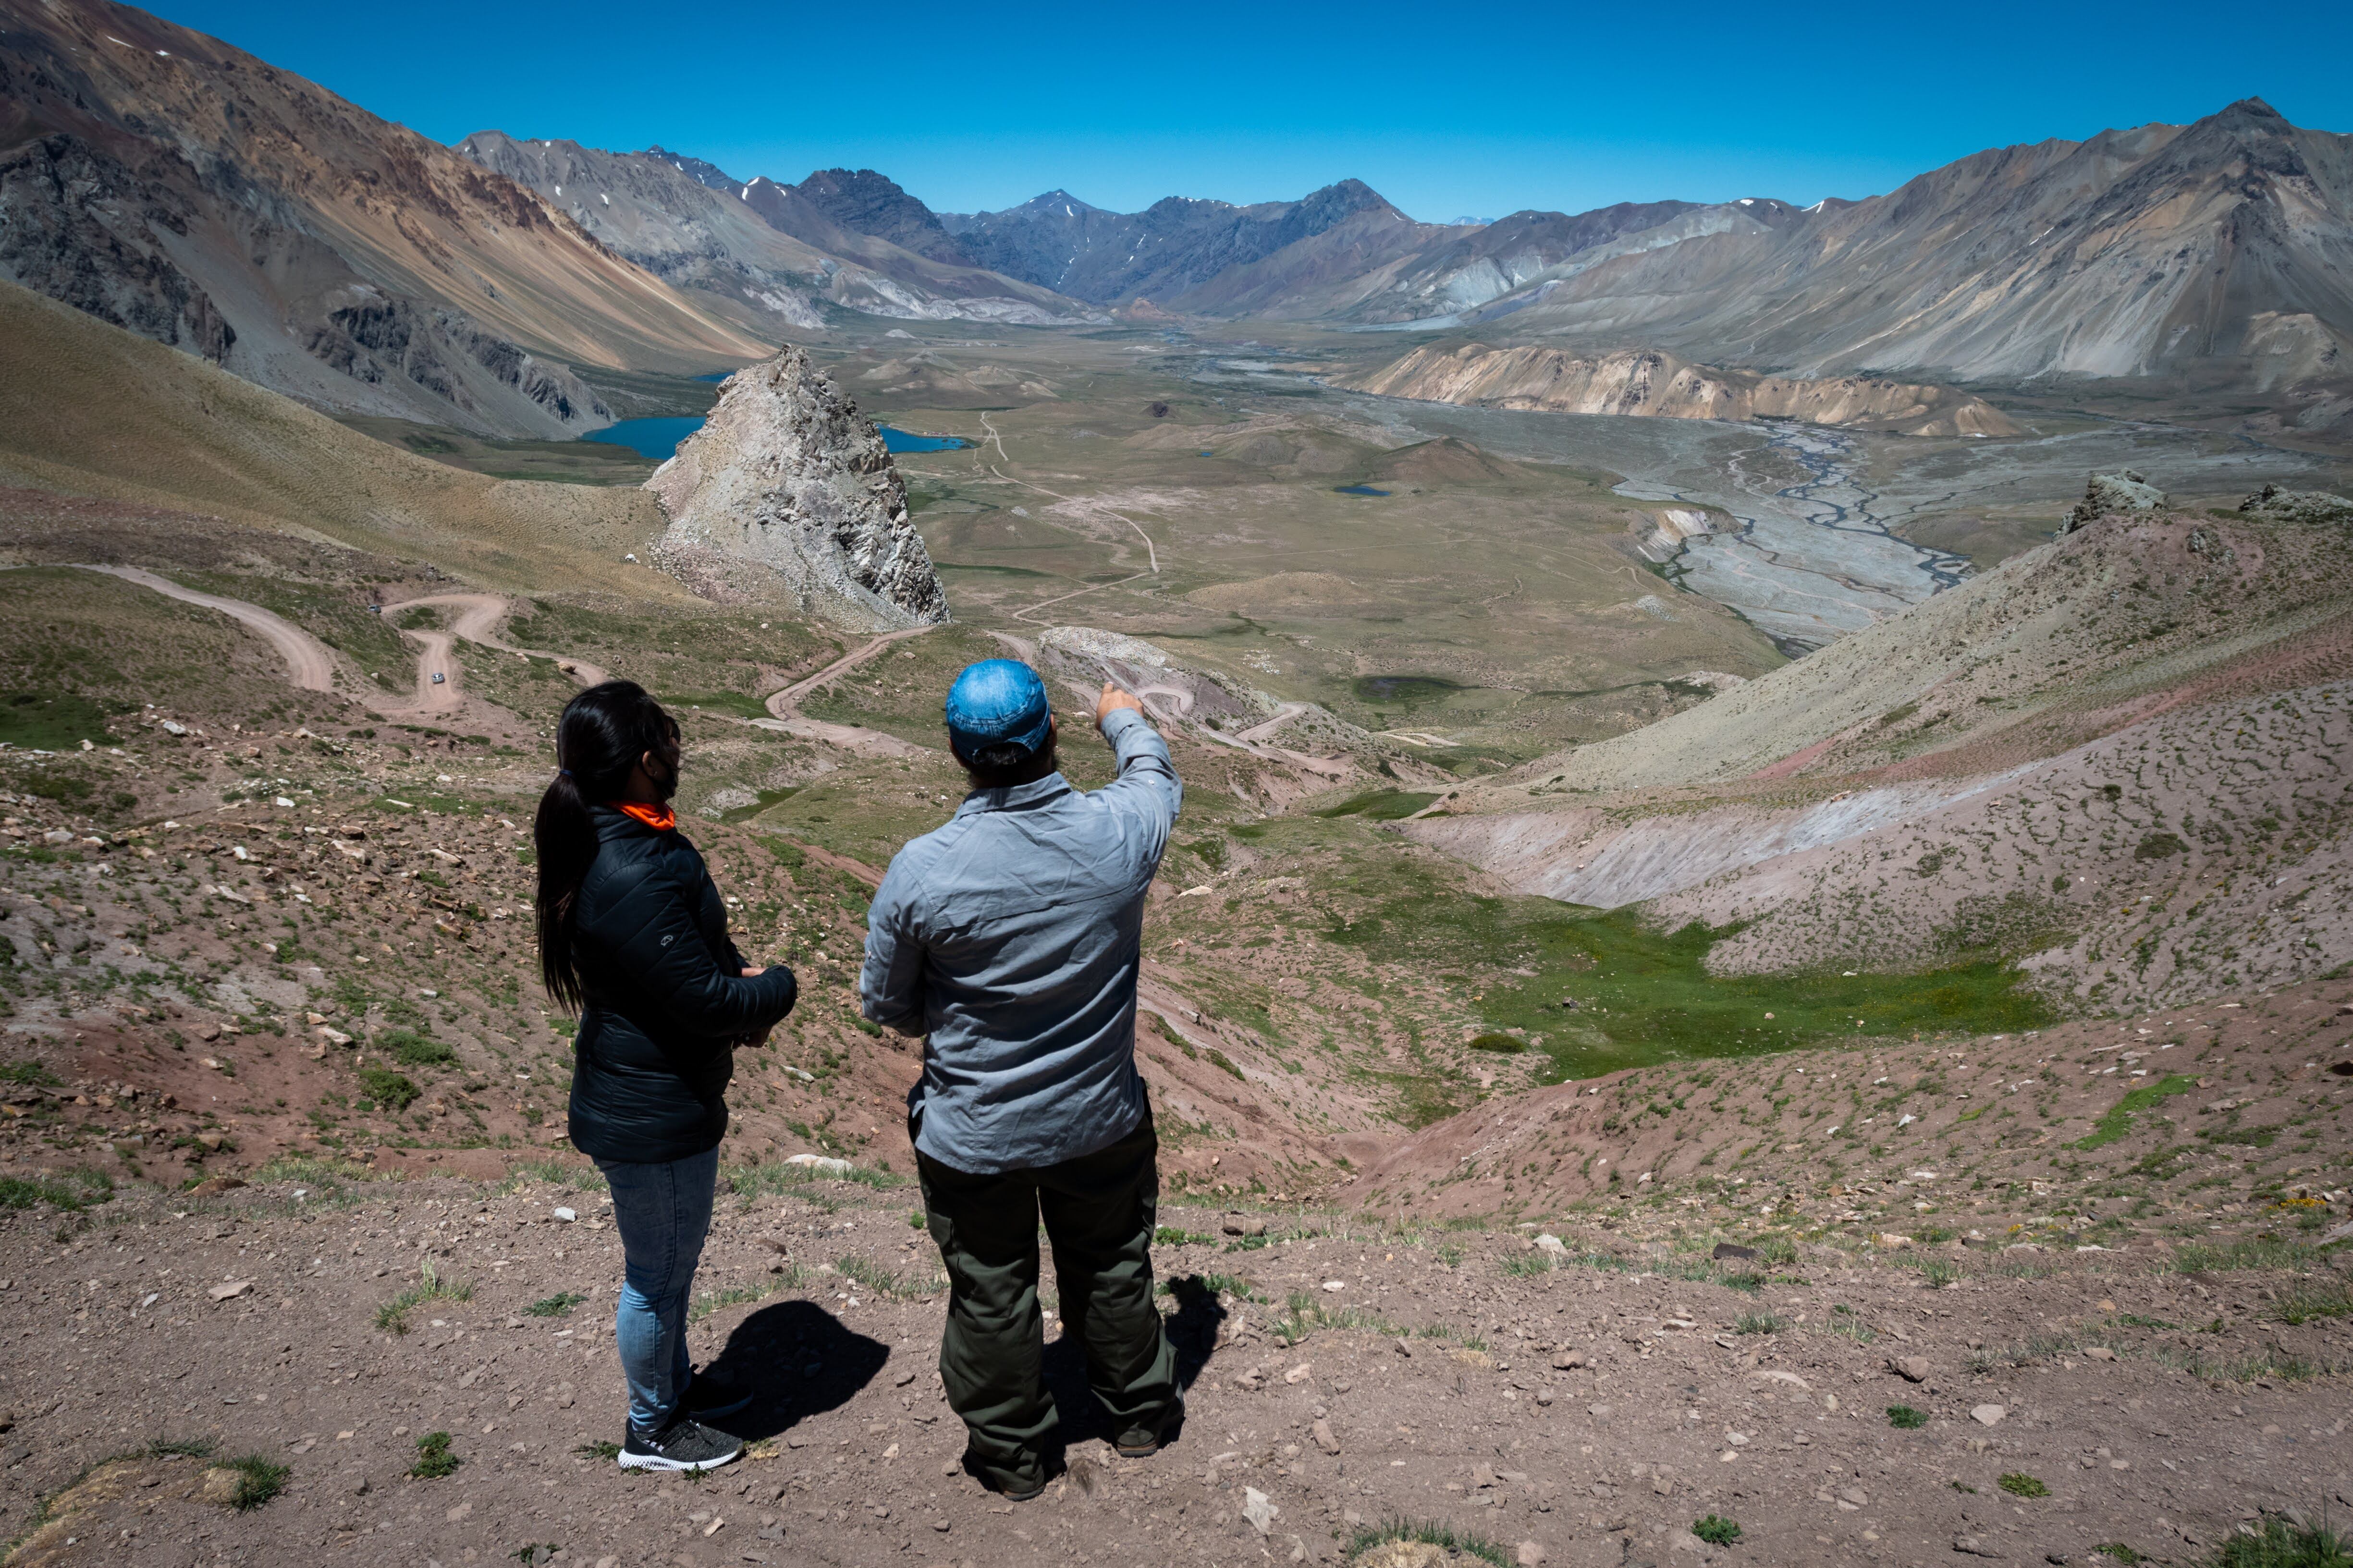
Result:
M1899 435L2017 435L1993 404L1948 386L1878 376L1793 381L1701 369L1657 350L1579 357L1558 348L1433 343L1367 376L1334 381L1355 393L1551 414L1649 418L1800 418Z

